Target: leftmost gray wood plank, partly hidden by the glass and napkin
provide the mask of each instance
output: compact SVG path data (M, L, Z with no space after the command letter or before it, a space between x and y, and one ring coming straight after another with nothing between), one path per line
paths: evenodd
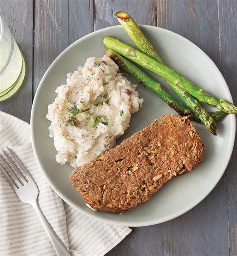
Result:
M21 88L12 98L0 102L0 111L29 122L32 106L33 0L0 0L0 10L26 64L26 75Z

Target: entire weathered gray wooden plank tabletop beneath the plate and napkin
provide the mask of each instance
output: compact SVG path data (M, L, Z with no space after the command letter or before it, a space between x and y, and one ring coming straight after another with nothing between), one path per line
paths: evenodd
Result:
M139 24L169 29L198 45L221 70L237 104L236 0L0 0L0 8L27 68L22 88L1 102L0 110L27 122L52 61L82 36L118 24L119 10ZM132 228L108 255L237 255L236 169L235 147L222 179L198 206L166 223Z

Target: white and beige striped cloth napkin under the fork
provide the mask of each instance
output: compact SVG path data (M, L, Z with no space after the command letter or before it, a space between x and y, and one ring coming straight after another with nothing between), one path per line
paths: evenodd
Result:
M39 169L29 124L0 112L0 148L5 146L13 147L32 175L40 191L39 207L72 255L104 255L131 232L128 227L93 220L65 203ZM20 201L1 171L0 255L56 255L33 207Z

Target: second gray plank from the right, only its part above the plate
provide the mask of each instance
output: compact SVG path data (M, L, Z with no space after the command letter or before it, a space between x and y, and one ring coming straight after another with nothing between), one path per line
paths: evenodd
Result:
M158 0L157 26L186 37L219 67L217 0Z

